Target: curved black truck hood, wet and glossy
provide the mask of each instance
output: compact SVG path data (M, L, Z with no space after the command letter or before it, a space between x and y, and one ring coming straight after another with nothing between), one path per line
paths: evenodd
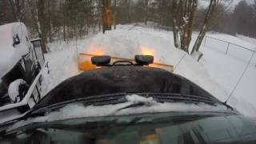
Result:
M110 66L88 70L51 90L34 108L102 94L168 93L215 99L199 86L166 70L148 66Z

